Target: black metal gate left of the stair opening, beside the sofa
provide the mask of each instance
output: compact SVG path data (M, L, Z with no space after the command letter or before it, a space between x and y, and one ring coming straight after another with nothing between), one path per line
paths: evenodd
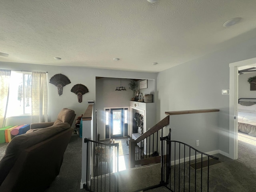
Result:
M119 143L103 143L84 138L86 146L86 191L119 191ZM90 160L89 160L90 158ZM89 163L90 162L90 163ZM87 178L90 176L90 178Z

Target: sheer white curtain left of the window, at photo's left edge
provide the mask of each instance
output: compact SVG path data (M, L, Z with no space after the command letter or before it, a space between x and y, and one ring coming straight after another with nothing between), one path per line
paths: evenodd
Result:
M5 126L11 70L0 69L0 126Z

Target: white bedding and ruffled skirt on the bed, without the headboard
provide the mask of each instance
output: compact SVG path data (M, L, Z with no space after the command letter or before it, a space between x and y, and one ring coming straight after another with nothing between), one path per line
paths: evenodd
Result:
M238 104L238 131L256 136L256 104L252 106Z

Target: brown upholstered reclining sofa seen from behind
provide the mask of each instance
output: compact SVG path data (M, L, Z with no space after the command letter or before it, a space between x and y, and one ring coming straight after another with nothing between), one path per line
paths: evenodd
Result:
M66 108L64 111L62 116L66 118L58 116L52 126L29 130L11 140L0 161L0 192L40 192L50 186L60 172L73 132L70 123L75 113Z

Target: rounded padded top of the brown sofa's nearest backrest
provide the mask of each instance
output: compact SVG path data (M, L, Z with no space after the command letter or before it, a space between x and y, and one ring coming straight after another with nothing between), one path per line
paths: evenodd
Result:
M47 140L68 128L70 128L70 124L60 123L56 126L43 128L14 137L7 145L5 155L0 161L0 185L24 149Z

